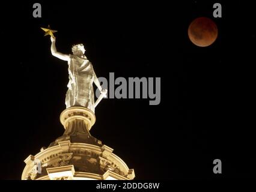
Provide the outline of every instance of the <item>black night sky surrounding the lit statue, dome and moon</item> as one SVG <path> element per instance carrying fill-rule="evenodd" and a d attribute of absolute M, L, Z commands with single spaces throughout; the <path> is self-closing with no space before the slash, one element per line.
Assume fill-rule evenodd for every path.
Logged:
<path fill-rule="evenodd" d="M 255 178 L 255 10 L 243 1 L 41 3 L 1 6 L 1 179 L 20 179 L 29 154 L 64 133 L 67 62 L 50 53 L 83 43 L 98 77 L 161 77 L 161 101 L 104 99 L 90 133 L 135 169 L 135 179 Z M 213 17 L 221 2 L 222 18 Z M 219 35 L 197 47 L 187 28 L 209 17 Z M 222 160 L 222 174 L 213 160 Z"/>

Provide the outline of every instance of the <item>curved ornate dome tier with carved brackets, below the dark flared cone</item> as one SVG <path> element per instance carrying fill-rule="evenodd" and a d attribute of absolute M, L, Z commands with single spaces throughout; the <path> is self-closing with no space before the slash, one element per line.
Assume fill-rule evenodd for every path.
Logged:
<path fill-rule="evenodd" d="M 129 169 L 121 158 L 112 153 L 112 150 L 106 145 L 99 147 L 87 143 L 61 142 L 58 146 L 44 149 L 35 156 L 29 155 L 25 160 L 27 164 L 22 179 L 46 179 L 47 169 L 63 166 L 74 166 L 79 174 L 91 172 L 104 175 L 106 172 L 112 172 L 121 178 L 133 179 L 133 169 Z M 41 174 L 34 174 L 32 160 L 35 158 L 42 162 Z"/>

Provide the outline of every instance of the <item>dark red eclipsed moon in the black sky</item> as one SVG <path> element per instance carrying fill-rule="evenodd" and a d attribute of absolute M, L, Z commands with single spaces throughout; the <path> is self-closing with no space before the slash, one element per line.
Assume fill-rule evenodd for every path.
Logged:
<path fill-rule="evenodd" d="M 212 19 L 199 17 L 189 25 L 188 35 L 190 41 L 199 47 L 213 44 L 218 36 L 218 28 Z"/>

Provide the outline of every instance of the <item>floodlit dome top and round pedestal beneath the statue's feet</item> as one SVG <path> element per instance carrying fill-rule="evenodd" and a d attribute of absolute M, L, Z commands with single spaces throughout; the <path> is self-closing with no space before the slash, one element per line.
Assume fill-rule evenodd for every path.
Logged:
<path fill-rule="evenodd" d="M 61 113 L 65 132 L 48 148 L 26 158 L 22 180 L 87 180 L 135 178 L 113 149 L 91 136 L 96 121 L 94 113 L 85 107 L 70 107 Z M 34 160 L 40 160 L 41 173 Z"/>

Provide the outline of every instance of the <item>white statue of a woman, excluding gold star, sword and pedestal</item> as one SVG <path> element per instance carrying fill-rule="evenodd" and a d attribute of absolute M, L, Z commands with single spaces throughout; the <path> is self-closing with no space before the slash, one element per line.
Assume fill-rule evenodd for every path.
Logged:
<path fill-rule="evenodd" d="M 50 37 L 52 46 L 50 50 L 53 56 L 67 61 L 69 64 L 69 88 L 66 94 L 66 107 L 82 106 L 87 107 L 94 112 L 94 91 L 93 83 L 102 94 L 107 90 L 100 86 L 99 80 L 93 70 L 93 65 L 84 55 L 85 48 L 83 44 L 76 44 L 72 47 L 73 54 L 65 55 L 57 52 L 55 46 L 55 37 Z"/>

